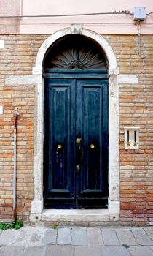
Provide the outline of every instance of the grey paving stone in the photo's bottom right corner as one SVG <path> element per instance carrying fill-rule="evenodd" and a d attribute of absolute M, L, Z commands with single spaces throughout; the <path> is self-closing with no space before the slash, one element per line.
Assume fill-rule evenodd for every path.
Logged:
<path fill-rule="evenodd" d="M 153 256 L 152 249 L 149 246 L 130 246 L 129 251 L 132 256 Z"/>

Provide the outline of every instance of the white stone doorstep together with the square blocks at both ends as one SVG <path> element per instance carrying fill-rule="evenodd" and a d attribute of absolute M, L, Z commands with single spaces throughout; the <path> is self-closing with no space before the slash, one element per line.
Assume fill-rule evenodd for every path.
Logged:
<path fill-rule="evenodd" d="M 108 199 L 108 209 L 43 210 L 43 201 L 31 203 L 31 222 L 110 222 L 119 220 L 120 203 Z"/>

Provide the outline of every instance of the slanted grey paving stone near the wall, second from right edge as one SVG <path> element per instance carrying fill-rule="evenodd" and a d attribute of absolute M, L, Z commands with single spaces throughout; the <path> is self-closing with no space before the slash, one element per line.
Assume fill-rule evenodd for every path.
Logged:
<path fill-rule="evenodd" d="M 140 245 L 153 245 L 153 241 L 149 238 L 142 227 L 131 227 L 133 235 Z"/>

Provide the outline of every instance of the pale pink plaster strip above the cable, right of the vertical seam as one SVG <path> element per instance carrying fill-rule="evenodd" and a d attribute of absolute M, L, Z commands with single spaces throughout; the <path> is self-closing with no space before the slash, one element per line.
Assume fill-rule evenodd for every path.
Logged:
<path fill-rule="evenodd" d="M 146 12 L 150 12 L 153 2 L 152 0 L 107 0 L 105 2 L 101 0 L 23 0 L 23 15 L 114 12 L 114 10 L 132 12 L 135 6 L 144 6 Z"/>

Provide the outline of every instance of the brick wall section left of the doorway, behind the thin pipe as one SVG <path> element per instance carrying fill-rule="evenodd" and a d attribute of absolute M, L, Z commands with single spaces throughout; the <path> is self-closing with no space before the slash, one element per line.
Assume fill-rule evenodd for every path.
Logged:
<path fill-rule="evenodd" d="M 33 199 L 34 85 L 8 86 L 6 75 L 31 75 L 36 53 L 45 37 L 1 37 L 0 49 L 0 219 L 12 218 L 14 111 L 17 124 L 17 215 L 28 219 Z"/>

